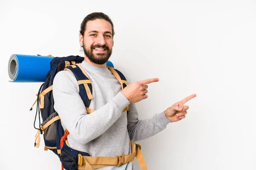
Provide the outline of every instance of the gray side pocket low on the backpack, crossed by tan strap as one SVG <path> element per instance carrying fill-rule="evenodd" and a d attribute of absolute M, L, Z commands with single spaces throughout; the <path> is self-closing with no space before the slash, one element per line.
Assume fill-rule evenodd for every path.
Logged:
<path fill-rule="evenodd" d="M 44 126 L 47 122 L 49 122 L 55 116 L 56 116 L 56 112 L 53 112 L 43 123 L 41 123 L 41 126 Z M 44 138 L 48 141 L 56 141 L 56 122 L 53 122 L 44 130 Z"/>

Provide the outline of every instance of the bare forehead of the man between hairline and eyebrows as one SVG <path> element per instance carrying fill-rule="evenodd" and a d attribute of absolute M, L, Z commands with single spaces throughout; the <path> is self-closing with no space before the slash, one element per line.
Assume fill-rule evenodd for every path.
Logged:
<path fill-rule="evenodd" d="M 87 22 L 85 32 L 90 32 L 90 31 L 112 32 L 112 26 L 106 20 L 102 20 L 102 19 L 91 20 Z"/>

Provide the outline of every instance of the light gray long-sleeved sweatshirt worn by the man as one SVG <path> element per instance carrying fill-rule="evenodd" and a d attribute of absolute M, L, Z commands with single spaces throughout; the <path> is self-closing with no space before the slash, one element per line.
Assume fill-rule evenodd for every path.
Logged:
<path fill-rule="evenodd" d="M 90 156 L 128 155 L 131 154 L 130 140 L 136 142 L 151 137 L 170 123 L 164 112 L 154 114 L 150 119 L 139 120 L 135 104 L 130 104 L 121 93 L 120 83 L 108 68 L 98 68 L 85 61 L 80 65 L 92 83 L 93 99 L 89 108 L 95 112 L 87 114 L 79 96 L 78 83 L 70 71 L 58 72 L 53 81 L 54 108 L 63 128 L 70 132 L 67 140 L 71 147 Z M 129 79 L 128 83 L 131 83 Z M 126 111 L 122 113 L 126 105 L 130 107 L 128 114 Z M 129 162 L 98 170 L 103 169 L 133 170 L 134 166 Z"/>

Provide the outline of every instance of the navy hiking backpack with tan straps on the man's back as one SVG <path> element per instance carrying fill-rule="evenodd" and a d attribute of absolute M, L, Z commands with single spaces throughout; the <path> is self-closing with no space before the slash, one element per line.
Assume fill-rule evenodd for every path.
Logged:
<path fill-rule="evenodd" d="M 66 140 L 69 131 L 67 129 L 63 129 L 63 127 L 61 126 L 60 117 L 54 109 L 54 99 L 52 95 L 53 79 L 59 71 L 67 70 L 73 73 L 73 75 L 76 77 L 76 80 L 79 84 L 79 95 L 84 102 L 87 113 L 89 114 L 95 111 L 89 108 L 91 99 L 93 99 L 93 89 L 90 82 L 90 77 L 88 77 L 81 65 L 78 64 L 81 63 L 83 60 L 84 57 L 80 56 L 54 57 L 54 59 L 52 59 L 52 61 L 50 62 L 50 70 L 46 76 L 47 79 L 39 88 L 38 94 L 36 94 L 37 99 L 34 102 L 34 104 L 37 102 L 35 121 L 37 119 L 37 114 L 39 120 L 39 128 L 35 127 L 34 121 L 34 128 L 37 129 L 34 146 L 39 147 L 41 141 L 40 135 L 44 133 L 44 150 L 52 150 L 52 152 L 54 152 L 59 157 L 62 169 L 65 168 L 66 170 L 79 170 L 79 168 L 84 170 L 91 170 L 92 168 L 111 165 L 102 163 L 102 161 L 95 161 L 94 159 L 97 159 L 98 157 L 91 157 L 89 153 L 81 152 L 70 147 Z M 125 76 L 120 71 L 113 68 L 113 64 L 109 61 L 107 62 L 107 67 L 118 79 L 121 88 L 125 88 L 128 85 Z M 127 105 L 122 112 L 128 110 L 129 105 Z M 32 108 L 30 109 L 30 111 L 32 111 Z M 131 145 L 134 147 L 133 153 L 135 154 L 133 154 L 133 156 L 128 155 L 131 157 L 131 160 L 126 159 L 128 161 L 133 161 L 136 153 L 141 153 L 140 151 L 138 151 L 140 150 L 140 145 L 133 142 L 131 142 Z M 122 157 L 117 156 L 112 160 L 117 161 L 117 163 L 114 162 L 112 164 L 116 164 L 117 166 L 122 165 L 126 163 L 124 158 L 124 155 Z M 106 160 L 111 162 L 110 157 L 106 157 Z M 145 163 L 143 162 L 143 164 Z"/>

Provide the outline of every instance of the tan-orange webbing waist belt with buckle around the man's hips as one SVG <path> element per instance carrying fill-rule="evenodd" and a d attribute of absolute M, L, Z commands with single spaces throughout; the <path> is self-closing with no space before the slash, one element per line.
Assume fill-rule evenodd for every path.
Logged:
<path fill-rule="evenodd" d="M 126 164 L 128 162 L 134 161 L 134 158 L 137 157 L 138 162 L 140 164 L 141 170 L 147 170 L 147 166 L 145 163 L 145 159 L 143 154 L 140 151 L 140 148 L 137 147 L 136 144 L 131 142 L 131 154 L 130 155 L 121 155 L 116 157 L 92 157 L 92 156 L 82 156 L 79 154 L 78 159 L 78 170 L 92 170 L 99 167 L 106 167 L 109 165 L 120 166 L 122 164 Z"/>

